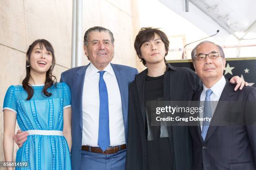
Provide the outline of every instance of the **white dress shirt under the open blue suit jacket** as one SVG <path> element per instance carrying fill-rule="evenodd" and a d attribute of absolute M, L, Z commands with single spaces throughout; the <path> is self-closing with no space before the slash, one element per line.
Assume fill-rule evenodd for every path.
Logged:
<path fill-rule="evenodd" d="M 100 95 L 98 69 L 90 63 L 85 72 L 82 94 L 82 145 L 98 146 Z M 103 79 L 108 90 L 110 146 L 125 144 L 122 102 L 115 72 L 110 64 L 105 67 Z"/>

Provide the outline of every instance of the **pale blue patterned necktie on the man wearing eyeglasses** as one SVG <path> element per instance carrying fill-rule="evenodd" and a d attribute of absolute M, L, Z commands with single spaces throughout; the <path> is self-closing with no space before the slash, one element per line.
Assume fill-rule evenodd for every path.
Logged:
<path fill-rule="evenodd" d="M 210 98 L 211 94 L 212 94 L 211 89 L 206 90 L 205 104 L 204 104 L 204 118 L 205 117 L 208 117 L 208 118 L 212 117 L 212 108 L 211 108 L 211 102 L 210 102 L 211 101 L 211 98 Z M 201 133 L 203 141 L 205 141 L 205 137 L 206 137 L 209 125 L 210 125 L 209 121 L 206 121 L 206 120 L 203 121 L 202 133 Z"/>

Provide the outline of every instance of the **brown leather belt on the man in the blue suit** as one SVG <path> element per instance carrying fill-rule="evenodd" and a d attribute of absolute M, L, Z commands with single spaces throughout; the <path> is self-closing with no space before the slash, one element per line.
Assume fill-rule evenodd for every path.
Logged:
<path fill-rule="evenodd" d="M 91 151 L 90 151 L 90 148 L 91 148 Z M 82 145 L 82 150 L 93 152 L 93 153 L 102 153 L 102 154 L 113 154 L 113 153 L 117 153 L 119 150 L 124 150 L 124 149 L 126 149 L 126 144 L 107 148 L 104 152 L 102 151 L 102 149 L 97 147 Z"/>

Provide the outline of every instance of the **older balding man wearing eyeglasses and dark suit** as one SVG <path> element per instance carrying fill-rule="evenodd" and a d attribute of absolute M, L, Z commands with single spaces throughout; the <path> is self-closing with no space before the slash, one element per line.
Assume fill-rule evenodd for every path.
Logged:
<path fill-rule="evenodd" d="M 213 42 L 201 42 L 192 50 L 191 56 L 203 82 L 203 88 L 193 100 L 204 103 L 201 117 L 212 118 L 210 122 L 189 127 L 194 156 L 192 169 L 255 170 L 255 118 L 248 123 L 255 116 L 245 110 L 249 106 L 246 103 L 256 103 L 256 88 L 247 86 L 234 91 L 234 85 L 223 76 L 226 63 L 223 49 Z M 239 107 L 231 107 L 231 103 L 238 103 Z M 236 116 L 241 124 L 235 121 Z M 229 125 L 223 124 L 226 120 L 230 120 Z"/>

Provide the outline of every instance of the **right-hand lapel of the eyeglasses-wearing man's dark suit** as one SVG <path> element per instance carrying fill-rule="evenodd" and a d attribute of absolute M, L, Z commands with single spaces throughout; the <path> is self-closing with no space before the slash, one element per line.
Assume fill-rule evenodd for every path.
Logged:
<path fill-rule="evenodd" d="M 228 106 L 224 105 L 221 101 L 230 101 L 232 100 L 231 97 L 234 95 L 235 91 L 233 89 L 233 86 L 226 80 L 226 85 L 220 95 L 220 99 L 218 102 L 218 105 L 215 109 L 215 112 L 212 116 L 212 121 L 210 123 L 210 126 L 208 128 L 206 137 L 205 137 L 205 142 L 209 140 L 211 137 L 212 133 L 216 130 L 220 122 L 223 120 L 223 113 L 225 113 L 225 110 L 228 110 Z"/>

